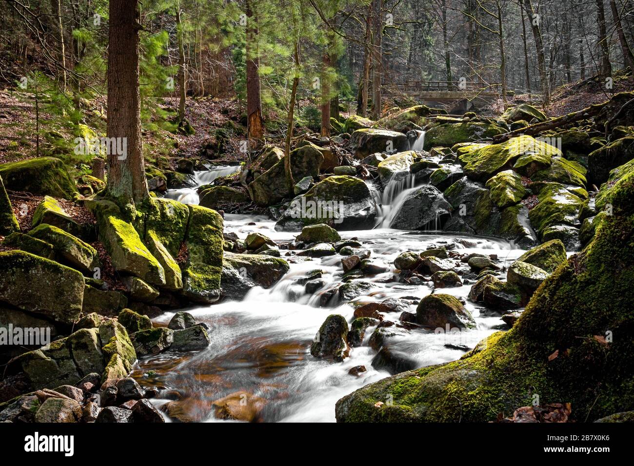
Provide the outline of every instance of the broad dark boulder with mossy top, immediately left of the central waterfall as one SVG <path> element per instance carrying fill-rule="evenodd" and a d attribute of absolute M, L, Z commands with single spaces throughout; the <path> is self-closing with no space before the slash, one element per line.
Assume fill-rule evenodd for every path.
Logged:
<path fill-rule="evenodd" d="M 376 216 L 376 202 L 363 180 L 329 176 L 292 200 L 275 228 L 299 231 L 307 225 L 325 223 L 339 231 L 360 230 L 372 228 Z"/>

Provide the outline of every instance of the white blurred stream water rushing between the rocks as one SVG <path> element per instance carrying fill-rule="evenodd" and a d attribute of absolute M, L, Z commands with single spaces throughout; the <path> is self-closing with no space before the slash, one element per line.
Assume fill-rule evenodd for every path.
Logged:
<path fill-rule="evenodd" d="M 209 174 L 209 178 L 213 174 Z M 200 177 L 202 178 L 202 177 Z M 207 180 L 209 179 L 207 178 Z M 408 182 L 409 183 L 409 182 Z M 404 183 L 403 186 L 408 186 Z M 411 188 L 399 188 L 401 194 Z M 396 187 L 391 202 L 401 194 Z M 182 190 L 180 190 L 182 191 Z M 194 190 L 195 192 L 195 190 Z M 173 193 L 172 195 L 176 195 Z M 181 193 L 182 195 L 182 193 Z M 387 196 L 387 195 L 385 195 Z M 387 197 L 385 197 L 387 200 Z M 385 209 L 384 205 L 384 209 Z M 275 231 L 275 223 L 264 217 L 225 216 L 225 231 L 245 238 L 252 231 L 269 236 L 276 242 L 289 242 L 296 233 Z M 341 282 L 341 256 L 308 259 L 290 256 L 290 271 L 269 289 L 253 288 L 242 301 L 224 301 L 211 306 L 184 309 L 210 328 L 210 346 L 195 353 L 163 353 L 138 362 L 133 373 L 141 385 L 158 387 L 160 395 L 154 402 L 162 405 L 169 393 L 178 391 L 183 398 L 180 408 L 190 420 L 225 422 L 214 418 L 212 401 L 228 394 L 246 391 L 266 400 L 261 412 L 265 422 L 332 422 L 335 403 L 342 396 L 376 382 L 390 374 L 372 367 L 376 352 L 367 346 L 373 328 L 365 333 L 365 346 L 351 349 L 342 363 L 316 359 L 309 348 L 321 323 L 330 314 L 353 319 L 354 304 L 382 301 L 390 297 L 421 299 L 432 292 L 431 283 L 410 285 L 399 283 L 391 266 L 394 258 L 406 250 L 421 251 L 430 245 L 455 245 L 458 252 L 498 254 L 500 265 L 508 266 L 522 251 L 510 249 L 504 240 L 445 233 L 420 233 L 375 228 L 374 230 L 343 231 L 342 238 L 358 238 L 372 258 L 384 262 L 389 271 L 364 281 L 376 288 L 353 301 L 336 307 L 319 307 L 320 295 Z M 282 256 L 285 250 L 281 250 Z M 314 294 L 304 291 L 295 280 L 307 271 L 321 269 L 325 285 Z M 443 288 L 442 292 L 466 301 L 470 285 Z M 460 358 L 490 333 L 503 328 L 499 315 L 489 313 L 466 301 L 473 314 L 477 330 L 456 333 L 434 333 L 423 329 L 411 330 L 396 337 L 393 348 L 406 354 L 417 366 L 444 363 Z M 416 306 L 407 309 L 415 313 Z M 165 312 L 154 320 L 155 325 L 167 325 L 176 311 Z M 386 320 L 398 321 L 401 311 L 385 314 Z M 448 347 L 450 346 L 450 347 Z M 366 372 L 359 377 L 349 375 L 354 366 L 364 365 Z M 173 399 L 173 398 L 171 398 Z"/>

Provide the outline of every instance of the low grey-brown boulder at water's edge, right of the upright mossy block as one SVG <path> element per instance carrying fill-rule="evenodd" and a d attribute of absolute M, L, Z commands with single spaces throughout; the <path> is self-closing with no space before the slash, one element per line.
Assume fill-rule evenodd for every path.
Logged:
<path fill-rule="evenodd" d="M 288 269 L 288 262 L 279 257 L 224 252 L 222 295 L 227 299 L 242 299 L 253 287 L 273 286 Z"/>

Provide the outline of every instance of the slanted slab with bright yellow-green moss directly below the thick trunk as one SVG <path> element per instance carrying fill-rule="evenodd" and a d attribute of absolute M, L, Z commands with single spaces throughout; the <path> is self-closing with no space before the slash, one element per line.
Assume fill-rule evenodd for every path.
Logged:
<path fill-rule="evenodd" d="M 153 285 L 165 285 L 165 269 L 152 256 L 119 207 L 108 200 L 89 202 L 87 206 L 97 217 L 99 238 L 110 254 L 113 268 L 124 275 L 138 276 Z"/>

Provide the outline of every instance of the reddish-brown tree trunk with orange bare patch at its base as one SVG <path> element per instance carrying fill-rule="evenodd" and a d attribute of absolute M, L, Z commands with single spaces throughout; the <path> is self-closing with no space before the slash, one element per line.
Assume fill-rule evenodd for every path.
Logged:
<path fill-rule="evenodd" d="M 247 0 L 247 133 L 249 139 L 262 139 L 262 100 L 260 95 L 260 58 L 257 46 L 257 18 Z"/>

